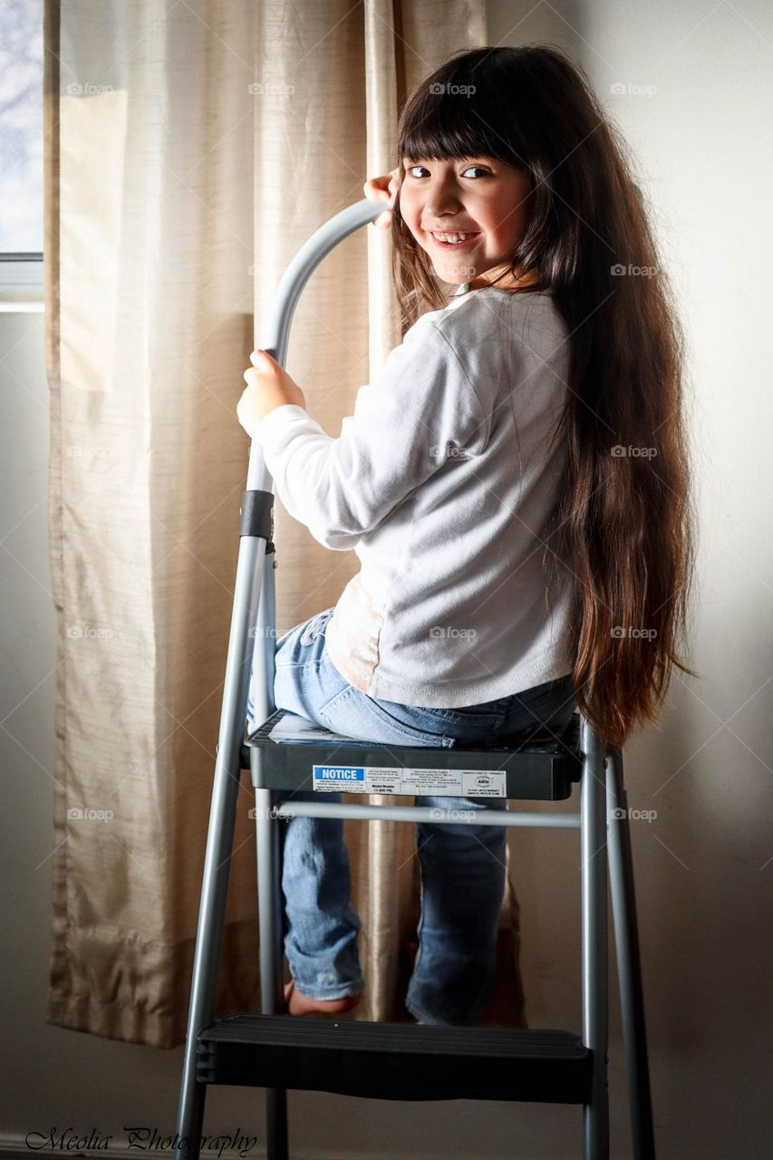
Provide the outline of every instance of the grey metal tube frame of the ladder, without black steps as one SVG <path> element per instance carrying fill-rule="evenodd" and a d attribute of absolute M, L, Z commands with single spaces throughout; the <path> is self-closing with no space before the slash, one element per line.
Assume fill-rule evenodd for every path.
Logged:
<path fill-rule="evenodd" d="M 322 259 L 360 226 L 383 212 L 383 205 L 361 201 L 323 225 L 288 267 L 277 289 L 276 306 L 262 349 L 284 365 L 289 326 L 309 276 Z M 190 1007 L 178 1109 L 175 1160 L 197 1160 L 207 1085 L 196 1080 L 198 1036 L 215 1020 L 223 926 L 233 851 L 236 807 L 244 759 L 244 727 L 253 652 L 255 719 L 274 711 L 275 590 L 273 494 L 260 444 L 250 451 L 234 601 L 225 667 L 224 695 L 212 785 L 207 851 L 194 954 Z M 629 1107 L 635 1160 L 655 1158 L 651 1094 L 646 1051 L 641 958 L 634 894 L 628 809 L 620 749 L 602 754 L 597 730 L 580 716 L 580 811 L 578 814 L 476 811 L 475 824 L 579 828 L 581 851 L 581 977 L 583 1042 L 593 1052 L 592 1099 L 583 1112 L 584 1160 L 609 1154 L 607 1097 L 608 972 L 607 891 L 611 889 L 617 973 L 628 1071 Z M 281 849 L 273 822 L 297 814 L 335 818 L 380 818 L 442 822 L 436 811 L 417 806 L 361 806 L 331 803 L 274 804 L 275 791 L 255 789 L 260 927 L 261 1013 L 283 1009 L 283 943 Z M 286 812 L 283 812 L 286 811 Z M 458 822 L 458 819 L 454 819 Z M 472 819 L 470 819 L 470 824 Z M 605 847 L 607 856 L 604 856 Z M 267 1155 L 287 1160 L 287 1092 L 266 1089 Z"/>

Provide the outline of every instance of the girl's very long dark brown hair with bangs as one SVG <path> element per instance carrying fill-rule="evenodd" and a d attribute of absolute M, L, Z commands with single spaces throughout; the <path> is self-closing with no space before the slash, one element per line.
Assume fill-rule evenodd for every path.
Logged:
<path fill-rule="evenodd" d="M 556 430 L 568 466 L 546 556 L 573 572 L 579 709 L 606 746 L 657 720 L 694 567 L 682 399 L 685 338 L 622 137 L 550 45 L 455 53 L 409 97 L 396 165 L 489 155 L 529 180 L 510 274 L 552 296 L 570 342 Z M 448 304 L 399 211 L 392 278 L 403 333 Z M 513 292 L 518 292 L 514 290 Z"/>

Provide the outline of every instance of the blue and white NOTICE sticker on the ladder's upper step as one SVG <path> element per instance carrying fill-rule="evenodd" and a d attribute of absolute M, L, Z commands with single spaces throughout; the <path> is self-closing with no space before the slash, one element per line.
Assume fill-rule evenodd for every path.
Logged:
<path fill-rule="evenodd" d="M 390 766 L 313 766 L 315 791 L 506 797 L 505 770 L 402 769 Z"/>

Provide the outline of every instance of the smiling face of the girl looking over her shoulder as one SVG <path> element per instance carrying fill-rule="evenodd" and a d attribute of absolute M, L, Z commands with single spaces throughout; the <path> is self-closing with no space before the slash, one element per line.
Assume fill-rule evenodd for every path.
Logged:
<path fill-rule="evenodd" d="M 420 162 L 404 159 L 399 205 L 405 224 L 429 255 L 439 278 L 460 285 L 477 280 L 479 285 L 486 285 L 506 269 L 526 229 L 528 191 L 528 177 L 496 158 Z M 435 237 L 443 233 L 475 237 L 451 246 Z M 506 276 L 498 284 L 519 283 Z"/>

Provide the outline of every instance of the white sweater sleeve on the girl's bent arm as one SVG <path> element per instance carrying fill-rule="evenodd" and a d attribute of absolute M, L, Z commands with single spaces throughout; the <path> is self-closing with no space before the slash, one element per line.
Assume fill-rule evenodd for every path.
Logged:
<path fill-rule="evenodd" d="M 258 423 L 276 492 L 288 513 L 325 548 L 347 551 L 417 487 L 453 461 L 483 450 L 486 419 L 448 339 L 419 319 L 354 414 L 331 438 L 303 407 L 284 404 Z"/>

